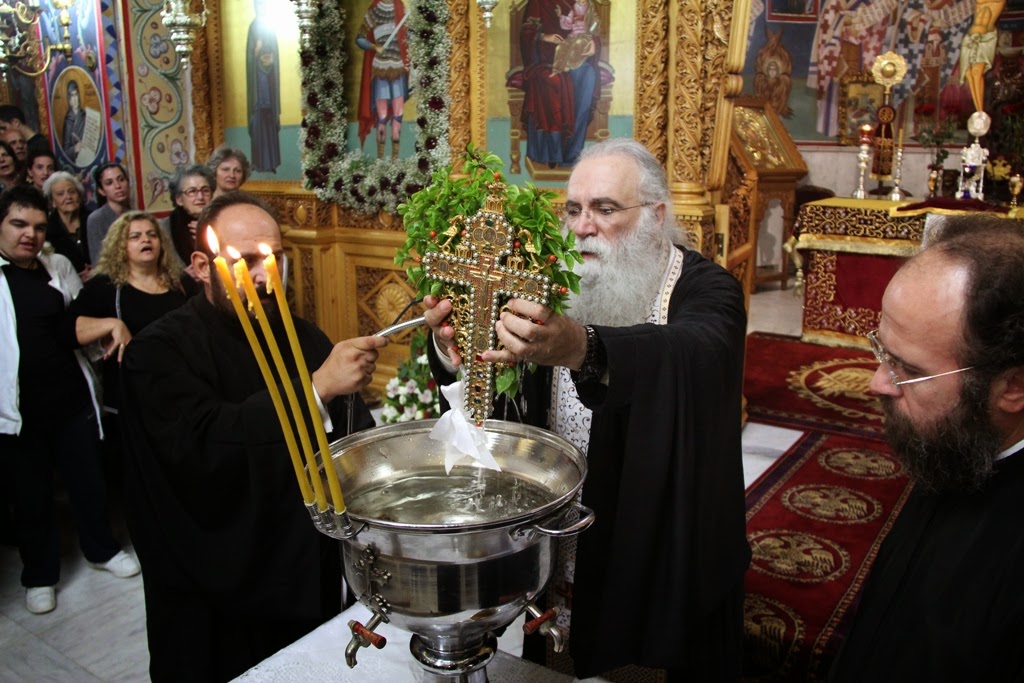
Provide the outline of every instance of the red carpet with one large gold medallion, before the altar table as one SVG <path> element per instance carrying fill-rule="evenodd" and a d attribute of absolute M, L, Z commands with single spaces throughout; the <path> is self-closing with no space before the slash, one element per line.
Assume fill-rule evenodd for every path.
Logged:
<path fill-rule="evenodd" d="M 752 334 L 743 385 L 748 415 L 791 429 L 882 438 L 882 408 L 866 394 L 877 368 L 869 351 Z"/>

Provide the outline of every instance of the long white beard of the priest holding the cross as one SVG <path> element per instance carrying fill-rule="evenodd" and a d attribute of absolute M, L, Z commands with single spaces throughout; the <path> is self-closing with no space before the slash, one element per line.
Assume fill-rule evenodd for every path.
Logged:
<path fill-rule="evenodd" d="M 653 211 L 616 240 L 592 236 L 577 241 L 581 252 L 600 258 L 582 263 L 580 294 L 570 294 L 568 316 L 583 325 L 622 328 L 646 323 L 662 287 L 672 243 Z"/>

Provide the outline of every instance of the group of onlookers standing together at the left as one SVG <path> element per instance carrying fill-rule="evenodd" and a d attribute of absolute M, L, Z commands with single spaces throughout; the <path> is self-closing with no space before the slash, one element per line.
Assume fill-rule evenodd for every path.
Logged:
<path fill-rule="evenodd" d="M 49 141 L 23 120 L 0 105 L 0 540 L 18 548 L 26 607 L 45 613 L 59 581 L 54 472 L 87 562 L 117 577 L 140 571 L 108 510 L 110 471 L 121 469 L 119 370 L 133 336 L 202 292 L 188 274 L 195 217 L 214 191 L 237 190 L 249 165 L 221 147 L 209 166 L 179 171 L 176 210 L 191 223 L 172 238 L 132 210 L 124 166 L 92 169 L 88 202 L 80 174 L 58 170 Z"/>

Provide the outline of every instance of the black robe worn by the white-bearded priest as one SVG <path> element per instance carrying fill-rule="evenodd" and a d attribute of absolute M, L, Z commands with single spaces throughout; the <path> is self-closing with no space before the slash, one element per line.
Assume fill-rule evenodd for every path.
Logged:
<path fill-rule="evenodd" d="M 594 413 L 583 504 L 597 519 L 577 550 L 575 674 L 632 664 L 687 680 L 738 680 L 751 557 L 740 447 L 742 290 L 686 251 L 667 325 L 595 330 L 608 384 L 577 385 Z M 454 379 L 436 357 L 431 364 L 438 379 Z M 527 375 L 524 421 L 547 427 L 551 377 L 550 369 Z M 496 418 L 515 415 L 496 407 Z"/>

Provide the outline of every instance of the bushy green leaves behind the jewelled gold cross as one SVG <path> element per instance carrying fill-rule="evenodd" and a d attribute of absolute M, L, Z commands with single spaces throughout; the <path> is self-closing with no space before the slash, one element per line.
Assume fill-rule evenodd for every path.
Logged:
<path fill-rule="evenodd" d="M 496 155 L 470 145 L 461 172 L 454 173 L 452 167 L 441 169 L 426 187 L 398 206 L 408 238 L 395 255 L 395 263 L 406 267 L 419 296 L 432 294 L 453 300 L 450 321 L 460 350 L 473 346 L 474 321 L 469 312 L 472 307 L 467 303 L 469 288 L 432 278 L 426 262 L 432 257 L 439 260 L 442 255 L 466 255 L 470 244 L 468 228 L 480 212 L 501 207 L 501 215 L 487 219 L 496 220 L 502 230 L 509 231 L 509 243 L 502 247 L 505 256 L 501 265 L 516 268 L 516 272 L 525 273 L 532 282 L 543 283 L 546 289 L 537 300 L 561 313 L 569 292 L 580 292 L 580 276 L 572 272 L 572 265 L 583 263 L 583 257 L 575 250 L 571 230 L 562 229 L 552 207 L 557 195 L 530 183 L 524 187 L 506 184 L 501 167 L 501 159 Z M 463 358 L 472 368 L 472 356 L 463 353 Z M 527 365 L 527 369 L 532 371 L 534 367 Z M 499 364 L 494 370 L 497 392 L 518 394 L 523 366 Z"/>

